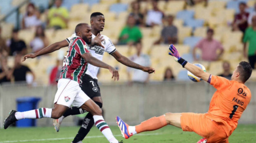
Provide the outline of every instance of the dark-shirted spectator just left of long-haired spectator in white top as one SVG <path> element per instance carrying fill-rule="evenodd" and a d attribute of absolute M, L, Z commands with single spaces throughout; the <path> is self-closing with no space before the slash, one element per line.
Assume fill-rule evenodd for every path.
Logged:
<path fill-rule="evenodd" d="M 25 42 L 18 37 L 18 30 L 12 30 L 12 38 L 6 41 L 7 47 L 9 47 L 9 55 L 15 55 L 18 53 L 25 55 L 27 53 L 27 46 Z"/>

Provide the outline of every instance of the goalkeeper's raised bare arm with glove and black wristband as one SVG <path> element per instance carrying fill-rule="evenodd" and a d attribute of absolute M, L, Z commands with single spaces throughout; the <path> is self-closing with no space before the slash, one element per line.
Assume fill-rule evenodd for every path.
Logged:
<path fill-rule="evenodd" d="M 210 74 L 204 72 L 198 66 L 196 66 L 194 64 L 190 64 L 186 60 L 182 59 L 180 57 L 178 50 L 175 48 L 175 46 L 173 44 L 170 45 L 169 49 L 171 51 L 171 52 L 169 52 L 169 55 L 172 55 L 175 58 L 175 60 L 183 66 L 183 68 L 187 69 L 195 76 L 197 76 L 205 81 L 208 81 Z"/>

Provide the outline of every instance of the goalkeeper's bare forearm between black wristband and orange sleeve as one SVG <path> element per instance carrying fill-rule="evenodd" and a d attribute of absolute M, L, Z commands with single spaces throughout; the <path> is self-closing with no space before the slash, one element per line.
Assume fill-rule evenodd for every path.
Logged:
<path fill-rule="evenodd" d="M 192 74 L 194 74 L 195 76 L 208 81 L 210 74 L 204 72 L 201 68 L 199 68 L 198 66 L 194 65 L 194 64 L 190 64 L 189 62 L 184 66 L 185 69 L 187 69 L 188 71 L 190 71 Z"/>

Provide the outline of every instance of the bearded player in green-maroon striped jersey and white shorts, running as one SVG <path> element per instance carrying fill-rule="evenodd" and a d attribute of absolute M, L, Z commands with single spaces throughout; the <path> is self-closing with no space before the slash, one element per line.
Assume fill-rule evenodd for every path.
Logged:
<path fill-rule="evenodd" d="M 58 119 L 71 106 L 80 107 L 93 115 L 94 123 L 110 143 L 119 143 L 113 136 L 109 126 L 102 117 L 101 108 L 93 102 L 80 88 L 81 77 L 87 70 L 87 62 L 98 67 L 109 69 L 112 78 L 119 79 L 118 71 L 110 65 L 96 59 L 88 50 L 91 43 L 91 26 L 80 23 L 75 29 L 76 36 L 69 44 L 65 64 L 58 79 L 58 90 L 54 98 L 54 107 L 17 112 L 12 110 L 4 122 L 4 129 L 12 123 L 24 118 L 53 118 Z M 47 51 L 47 50 L 46 50 Z M 48 49 L 48 52 L 50 50 Z M 26 58 L 24 59 L 26 60 Z"/>

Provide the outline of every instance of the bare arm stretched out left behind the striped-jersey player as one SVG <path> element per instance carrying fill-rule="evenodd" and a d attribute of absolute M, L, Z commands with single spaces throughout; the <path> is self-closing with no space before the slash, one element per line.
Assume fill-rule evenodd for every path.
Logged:
<path fill-rule="evenodd" d="M 25 55 L 23 58 L 22 58 L 22 62 L 25 61 L 26 59 L 29 59 L 29 58 L 35 58 L 37 56 L 40 56 L 40 55 L 45 55 L 45 54 L 48 54 L 48 53 L 52 53 L 56 50 L 59 50 L 63 47 L 66 47 L 68 46 L 68 42 L 66 40 L 62 40 L 60 42 L 56 42 L 56 43 L 53 43 L 47 47 L 45 47 L 44 49 L 40 50 L 39 52 L 37 53 L 31 53 L 31 54 L 27 54 Z"/>

